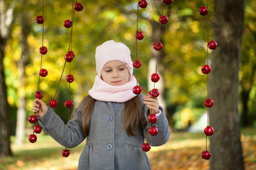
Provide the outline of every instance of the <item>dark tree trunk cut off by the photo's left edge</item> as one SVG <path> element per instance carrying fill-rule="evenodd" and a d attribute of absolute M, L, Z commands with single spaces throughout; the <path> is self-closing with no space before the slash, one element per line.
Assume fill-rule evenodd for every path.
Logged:
<path fill-rule="evenodd" d="M 13 10 L 6 10 L 5 2 L 0 0 L 0 157 L 11 155 L 11 127 L 9 118 L 9 103 L 4 74 L 4 51 L 6 40 L 9 38 Z"/>

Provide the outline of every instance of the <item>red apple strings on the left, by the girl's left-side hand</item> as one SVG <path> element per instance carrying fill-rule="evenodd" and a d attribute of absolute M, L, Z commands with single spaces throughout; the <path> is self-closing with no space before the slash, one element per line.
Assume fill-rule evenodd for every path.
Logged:
<path fill-rule="evenodd" d="M 43 4 L 44 4 L 44 2 L 43 2 Z M 73 59 L 75 57 L 75 52 L 72 51 L 73 22 L 74 22 L 75 11 L 82 11 L 82 8 L 83 8 L 82 4 L 78 3 L 78 1 L 75 2 L 75 6 L 73 4 L 74 3 L 73 3 L 73 0 L 72 0 L 71 20 L 68 19 L 68 20 L 65 20 L 63 22 L 63 26 L 65 28 L 71 28 L 71 31 L 70 31 L 70 42 L 69 42 L 68 52 L 64 57 L 65 58 L 65 63 L 64 63 L 64 66 L 63 66 L 63 71 L 62 71 L 61 76 L 60 76 L 60 81 L 61 81 L 61 79 L 63 77 L 64 69 L 65 69 L 65 64 L 66 64 L 66 62 L 69 62 L 70 63 L 70 72 L 65 78 L 66 81 L 69 83 L 69 96 L 68 96 L 68 100 L 65 101 L 65 105 L 64 105 L 65 108 L 68 108 L 68 120 L 70 120 L 70 109 L 73 106 L 73 102 L 70 100 L 70 84 L 74 81 L 74 77 L 71 74 L 71 62 L 73 61 Z M 42 26 L 44 27 L 43 22 L 44 22 L 43 14 L 42 14 L 42 16 L 37 16 L 36 17 L 36 23 L 42 24 Z M 44 30 L 42 32 L 44 33 Z M 43 33 L 42 33 L 42 47 L 39 48 L 39 52 L 41 53 L 41 69 L 40 69 L 39 78 L 38 78 L 38 91 L 36 91 L 36 93 L 35 93 L 35 97 L 39 98 L 39 99 L 43 98 L 43 92 L 40 91 L 40 89 L 39 89 L 40 78 L 41 77 L 46 77 L 48 75 L 48 71 L 46 69 L 42 69 L 43 55 L 46 55 L 46 53 L 48 52 L 47 47 L 43 46 Z M 55 108 L 55 107 L 58 106 L 58 101 L 55 100 L 55 96 L 58 92 L 58 87 L 60 85 L 60 81 L 58 82 L 58 86 L 57 86 L 57 89 L 55 91 L 55 95 L 53 96 L 53 98 L 51 100 L 48 100 L 49 101 L 49 106 L 51 108 Z M 38 125 L 38 118 L 37 118 L 36 115 L 30 115 L 29 118 L 28 118 L 28 121 L 29 121 L 29 123 L 32 123 L 34 125 L 33 134 L 29 135 L 28 140 L 29 140 L 29 142 L 34 143 L 37 140 L 37 137 L 34 134 L 34 132 L 39 134 L 39 133 L 41 133 L 42 128 L 41 128 L 40 125 Z M 63 151 L 62 151 L 63 157 L 68 157 L 69 154 L 70 154 L 69 149 L 67 149 L 67 148 L 63 149 Z"/>

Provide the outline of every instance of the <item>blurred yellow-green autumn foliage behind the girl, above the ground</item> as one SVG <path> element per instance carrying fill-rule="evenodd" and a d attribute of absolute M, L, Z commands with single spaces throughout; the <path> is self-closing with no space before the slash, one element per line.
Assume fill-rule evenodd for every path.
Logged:
<path fill-rule="evenodd" d="M 11 2 L 16 3 L 14 21 L 9 28 L 10 36 L 6 46 L 1 47 L 5 47 L 4 73 L 7 98 L 11 106 L 11 113 L 7 114 L 10 115 L 11 135 L 15 135 L 17 111 L 18 113 L 23 111 L 28 118 L 31 115 L 34 94 L 38 90 L 41 61 L 38 50 L 41 47 L 42 26 L 35 22 L 35 18 L 42 14 L 42 1 L 1 1 L 8 6 Z M 44 45 L 48 47 L 48 53 L 43 56 L 43 68 L 48 70 L 48 76 L 41 78 L 40 89 L 44 94 L 43 101 L 53 98 L 65 62 L 70 29 L 63 27 L 63 21 L 70 19 L 71 2 L 70 0 L 45 1 Z M 92 87 L 96 75 L 97 45 L 106 40 L 124 42 L 130 48 L 134 60 L 137 20 L 137 1 L 80 2 L 84 9 L 75 12 L 72 48 L 75 52 L 75 59 L 72 62 L 75 81 L 71 84 L 71 97 L 76 106 Z M 142 61 L 142 67 L 138 69 L 138 77 L 139 84 L 144 89 L 149 85 L 147 80 L 149 60 L 155 57 L 153 44 L 158 35 L 156 23 L 161 8 L 160 1 L 148 0 L 148 2 L 146 9 L 139 9 L 139 30 L 144 32 L 145 38 L 138 42 L 138 57 Z M 161 50 L 159 72 L 162 74 L 161 79 L 164 79 L 166 114 L 172 128 L 186 128 L 188 122 L 196 123 L 206 112 L 203 101 L 207 94 L 207 77 L 201 73 L 201 67 L 206 62 L 207 23 L 206 18 L 198 14 L 198 8 L 205 5 L 206 1 L 203 0 L 180 0 L 174 1 L 170 6 L 164 6 L 164 14 L 169 17 L 169 23 L 162 27 L 161 40 L 164 48 Z M 252 114 L 256 112 L 256 107 L 253 105 L 256 100 L 255 69 L 253 69 L 255 68 L 255 5 L 256 2 L 252 0 L 245 3 L 245 29 L 239 79 L 240 115 L 243 125 L 256 124 L 255 115 Z M 215 17 L 212 1 L 209 1 L 208 8 L 211 9 L 209 37 L 212 38 Z M 25 56 L 29 58 L 24 59 Z M 68 72 L 69 64 L 65 67 L 57 94 L 58 107 L 55 108 L 65 122 L 68 120 L 68 110 L 64 107 L 64 102 L 68 99 L 68 83 L 65 81 Z M 157 86 L 158 84 L 156 88 Z M 32 125 L 26 121 L 26 118 L 23 126 L 30 130 Z"/>

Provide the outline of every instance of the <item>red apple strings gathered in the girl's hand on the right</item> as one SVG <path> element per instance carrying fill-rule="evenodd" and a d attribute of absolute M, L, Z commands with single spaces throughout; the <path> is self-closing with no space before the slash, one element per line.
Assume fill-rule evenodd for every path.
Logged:
<path fill-rule="evenodd" d="M 162 11 L 161 11 L 161 16 L 159 17 L 159 40 L 157 42 L 154 43 L 154 50 L 156 50 L 156 72 L 157 72 L 157 61 L 158 61 L 158 58 L 159 58 L 159 51 L 163 48 L 163 44 L 160 42 L 160 35 L 161 35 L 161 25 L 165 25 L 166 23 L 168 23 L 169 19 L 167 18 L 167 16 L 164 16 L 163 15 L 163 12 L 164 12 L 164 4 L 166 5 L 169 5 L 173 2 L 173 0 L 163 0 L 163 5 L 162 5 Z M 142 33 L 142 31 L 139 31 L 138 29 L 138 25 L 139 25 L 139 7 L 140 8 L 146 8 L 146 6 L 148 5 L 147 1 L 146 0 L 141 0 L 139 1 L 138 5 L 137 5 L 137 31 L 135 33 L 135 60 L 133 62 L 133 67 L 136 68 L 136 77 L 138 79 L 138 75 L 137 75 L 137 69 L 139 69 L 139 67 L 142 66 L 142 62 L 140 62 L 137 58 L 137 41 L 138 40 L 142 40 L 144 38 L 144 33 Z M 147 92 L 147 95 L 151 95 L 151 96 L 154 96 L 154 97 L 158 97 L 159 96 L 159 90 L 155 88 L 155 84 L 157 81 L 159 81 L 160 77 L 159 77 L 159 74 L 157 73 L 154 73 L 151 75 L 151 81 L 154 82 L 154 89 L 152 89 L 151 91 Z M 143 89 L 144 90 L 144 89 Z M 145 91 L 145 90 L 144 90 Z M 134 86 L 133 88 L 133 93 L 134 94 L 141 94 L 142 93 L 142 87 L 139 86 L 139 83 L 137 81 L 137 86 Z M 148 140 L 148 137 L 149 137 L 149 134 L 152 135 L 152 136 L 155 136 L 158 134 L 158 129 L 156 127 L 156 125 L 154 123 L 156 123 L 156 120 L 157 120 L 157 117 L 155 114 L 152 114 L 151 111 L 150 111 L 150 114 L 149 114 L 149 131 L 146 135 L 146 142 L 144 142 L 142 144 L 142 150 L 144 152 L 149 152 L 149 150 L 151 149 L 151 145 L 149 144 L 149 140 Z"/>

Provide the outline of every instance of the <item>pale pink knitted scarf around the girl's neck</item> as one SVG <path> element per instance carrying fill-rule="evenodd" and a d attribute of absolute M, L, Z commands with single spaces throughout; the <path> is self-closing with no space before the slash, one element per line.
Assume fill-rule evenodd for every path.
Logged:
<path fill-rule="evenodd" d="M 98 101 L 122 103 L 137 96 L 132 92 L 134 86 L 137 86 L 137 80 L 134 76 L 132 76 L 126 84 L 112 86 L 100 79 L 97 75 L 92 89 L 89 90 L 89 94 L 92 98 L 95 98 Z"/>

